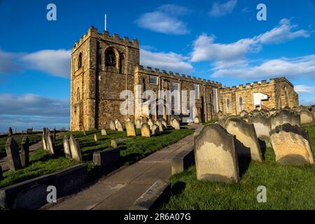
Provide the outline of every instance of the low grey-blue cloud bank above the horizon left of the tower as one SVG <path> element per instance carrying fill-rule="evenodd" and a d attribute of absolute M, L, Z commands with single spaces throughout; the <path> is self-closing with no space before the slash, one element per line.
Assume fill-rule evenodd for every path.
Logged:
<path fill-rule="evenodd" d="M 0 94 L 0 108 L 0 132 L 6 132 L 9 126 L 18 130 L 69 127 L 69 99 Z"/>

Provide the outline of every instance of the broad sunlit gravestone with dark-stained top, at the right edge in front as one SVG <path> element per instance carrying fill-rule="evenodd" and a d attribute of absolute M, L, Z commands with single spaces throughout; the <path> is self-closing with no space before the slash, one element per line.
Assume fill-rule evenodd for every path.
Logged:
<path fill-rule="evenodd" d="M 292 165 L 314 164 L 309 135 L 301 127 L 286 123 L 272 130 L 270 138 L 276 162 Z"/>

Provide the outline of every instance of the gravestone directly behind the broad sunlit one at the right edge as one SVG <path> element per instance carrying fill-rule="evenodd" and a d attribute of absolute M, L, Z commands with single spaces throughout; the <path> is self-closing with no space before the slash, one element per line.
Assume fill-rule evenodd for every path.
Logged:
<path fill-rule="evenodd" d="M 289 111 L 288 109 L 281 109 L 270 116 L 270 125 L 272 130 L 274 130 L 276 126 L 283 125 L 285 123 L 301 127 L 300 114 L 295 113 L 294 111 Z"/>

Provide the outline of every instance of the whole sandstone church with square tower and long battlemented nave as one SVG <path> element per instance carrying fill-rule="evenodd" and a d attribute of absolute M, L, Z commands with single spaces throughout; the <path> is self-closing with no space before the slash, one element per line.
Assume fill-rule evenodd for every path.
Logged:
<path fill-rule="evenodd" d="M 90 27 L 87 33 L 73 45 L 71 54 L 71 131 L 99 129 L 110 120 L 124 123 L 128 118 L 144 117 L 123 115 L 120 93 L 124 90 L 195 90 L 193 118 L 205 122 L 223 114 L 239 114 L 254 109 L 281 109 L 298 106 L 298 95 L 286 78 L 272 78 L 252 84 L 223 87 L 221 83 L 160 71 L 140 65 L 139 41 L 123 39 L 108 31 L 99 34 Z M 179 94 L 181 96 L 181 94 Z M 189 97 L 188 97 L 189 98 Z M 134 98 L 134 101 L 139 99 Z M 144 99 L 140 99 L 144 102 Z M 181 99 L 179 99 L 181 100 Z M 188 99 L 189 102 L 189 99 Z M 173 102 L 172 102 L 172 106 Z M 137 104 L 134 104 L 137 110 Z M 140 109 L 141 111 L 141 109 Z M 166 113 L 151 116 L 153 120 L 164 118 Z"/>

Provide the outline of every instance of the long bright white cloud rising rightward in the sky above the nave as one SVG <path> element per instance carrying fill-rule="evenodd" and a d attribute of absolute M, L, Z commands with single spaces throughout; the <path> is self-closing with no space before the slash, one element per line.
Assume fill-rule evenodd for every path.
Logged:
<path fill-rule="evenodd" d="M 241 59 L 250 52 L 260 52 L 264 44 L 283 43 L 294 38 L 309 37 L 309 31 L 300 29 L 293 31 L 297 25 L 291 25 L 290 20 L 283 19 L 274 29 L 254 36 L 242 38 L 234 43 L 214 43 L 215 36 L 200 35 L 193 43 L 191 53 L 192 62 L 200 61 L 227 61 Z"/>

